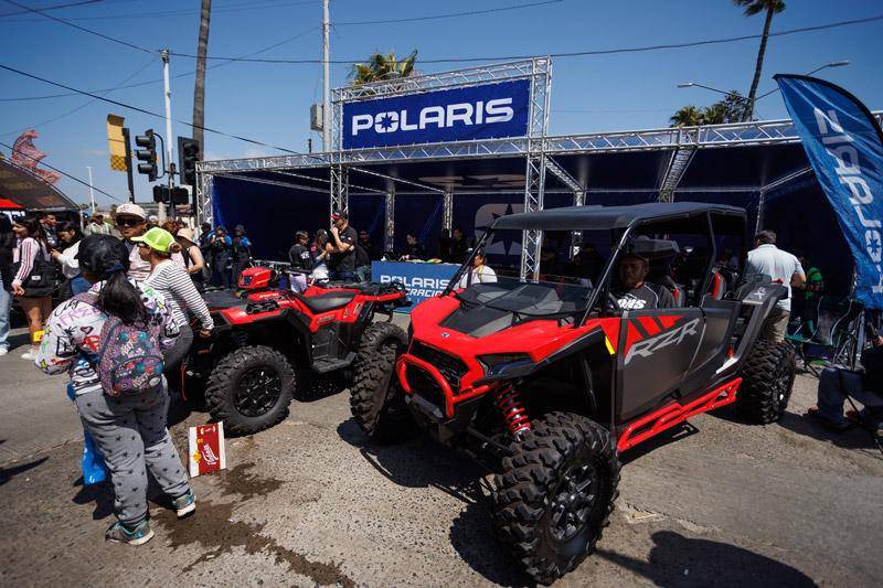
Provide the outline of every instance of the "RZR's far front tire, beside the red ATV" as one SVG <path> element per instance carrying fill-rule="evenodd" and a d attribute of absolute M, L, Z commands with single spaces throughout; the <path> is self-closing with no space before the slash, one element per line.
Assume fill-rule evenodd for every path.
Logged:
<path fill-rule="evenodd" d="M 406 345 L 405 332 L 389 322 L 373 323 L 359 343 L 350 409 L 359 427 L 374 441 L 403 440 L 417 432 L 395 375 L 395 360 Z"/>

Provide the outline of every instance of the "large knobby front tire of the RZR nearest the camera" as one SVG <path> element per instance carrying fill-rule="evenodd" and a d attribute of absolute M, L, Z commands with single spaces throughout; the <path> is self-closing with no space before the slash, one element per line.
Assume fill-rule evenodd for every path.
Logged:
<path fill-rule="evenodd" d="M 551 584 L 592 553 L 607 525 L 616 442 L 586 417 L 549 413 L 511 450 L 496 477 L 494 530 L 534 580 Z"/>

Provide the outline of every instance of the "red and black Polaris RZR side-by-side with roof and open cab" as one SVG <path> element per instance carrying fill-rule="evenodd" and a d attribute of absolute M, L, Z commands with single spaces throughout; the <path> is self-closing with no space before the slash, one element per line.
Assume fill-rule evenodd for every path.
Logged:
<path fill-rule="evenodd" d="M 413 309 L 409 335 L 387 325 L 357 362 L 355 421 L 375 439 L 416 423 L 490 458 L 500 541 L 553 581 L 599 539 L 620 452 L 731 403 L 754 423 L 784 413 L 794 354 L 758 335 L 787 290 L 743 279 L 745 225 L 741 209 L 699 203 L 498 218 Z M 526 231 L 543 247 L 521 280 L 503 266 Z"/>

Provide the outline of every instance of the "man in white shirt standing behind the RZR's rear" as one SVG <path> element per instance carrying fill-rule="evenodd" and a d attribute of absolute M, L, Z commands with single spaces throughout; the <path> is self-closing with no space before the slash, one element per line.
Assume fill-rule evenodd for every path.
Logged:
<path fill-rule="evenodd" d="M 791 288 L 804 286 L 807 276 L 797 257 L 776 247 L 776 234 L 772 231 L 759 232 L 754 237 L 754 247 L 748 252 L 745 276 L 763 274 L 773 278 L 774 282 L 788 288 L 787 298 L 776 302 L 776 307 L 769 312 L 760 336 L 767 341 L 784 341 L 788 330 L 788 318 L 791 314 Z"/>

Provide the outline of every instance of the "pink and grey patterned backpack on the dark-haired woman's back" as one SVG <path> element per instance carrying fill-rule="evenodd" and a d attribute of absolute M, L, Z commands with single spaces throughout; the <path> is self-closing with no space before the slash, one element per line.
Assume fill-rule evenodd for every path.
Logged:
<path fill-rule="evenodd" d="M 94 306 L 95 296 L 83 292 L 74 297 Z M 131 396 L 162 387 L 162 351 L 157 324 L 126 324 L 108 316 L 102 327 L 97 361 L 91 362 L 104 393 L 108 396 Z"/>

